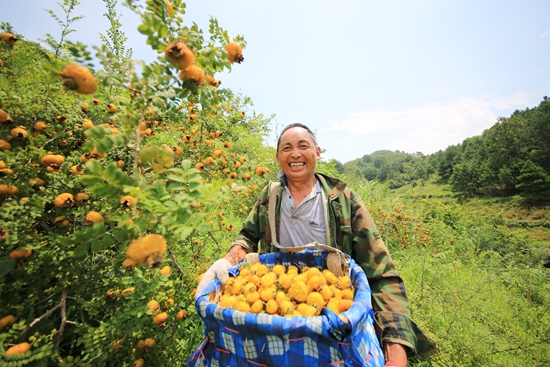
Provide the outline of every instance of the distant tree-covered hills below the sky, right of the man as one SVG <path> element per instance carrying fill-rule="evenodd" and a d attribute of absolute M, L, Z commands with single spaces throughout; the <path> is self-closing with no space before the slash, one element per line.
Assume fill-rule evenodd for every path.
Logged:
<path fill-rule="evenodd" d="M 434 154 L 380 150 L 335 164 L 340 173 L 387 182 L 390 188 L 435 177 L 463 197 L 520 195 L 550 202 L 550 99 L 500 117 L 483 134 Z"/>

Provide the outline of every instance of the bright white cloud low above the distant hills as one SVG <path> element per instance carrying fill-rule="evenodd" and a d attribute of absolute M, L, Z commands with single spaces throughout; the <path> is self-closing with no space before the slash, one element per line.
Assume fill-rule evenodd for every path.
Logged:
<path fill-rule="evenodd" d="M 377 149 L 431 154 L 462 143 L 468 137 L 480 135 L 483 130 L 493 126 L 499 116 L 503 116 L 498 114 L 500 110 L 523 108 L 529 103 L 527 93 L 516 93 L 500 99 L 462 98 L 448 104 L 430 103 L 401 111 L 379 108 L 329 122 L 326 128 L 320 130 L 326 136 L 333 137 L 333 141 L 328 144 L 332 147 L 349 146 L 349 137 L 352 136 L 357 141 L 375 140 Z M 339 137 L 342 141 L 347 139 L 348 144 L 338 143 L 336 140 Z M 353 155 L 357 158 L 371 152 L 355 151 Z"/>

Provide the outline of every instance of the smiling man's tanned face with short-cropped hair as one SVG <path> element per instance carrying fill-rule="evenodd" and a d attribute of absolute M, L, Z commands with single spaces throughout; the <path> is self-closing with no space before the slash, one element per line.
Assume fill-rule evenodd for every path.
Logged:
<path fill-rule="evenodd" d="M 289 181 L 313 177 L 315 164 L 320 156 L 321 148 L 315 148 L 313 140 L 304 128 L 290 128 L 281 137 L 277 161 Z"/>

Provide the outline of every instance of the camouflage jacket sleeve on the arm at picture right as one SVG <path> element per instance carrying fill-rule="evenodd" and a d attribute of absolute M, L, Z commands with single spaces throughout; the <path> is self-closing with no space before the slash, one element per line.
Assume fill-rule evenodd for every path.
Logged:
<path fill-rule="evenodd" d="M 372 291 L 380 340 L 407 347 L 420 358 L 435 353 L 435 342 L 411 320 L 403 279 L 363 201 L 351 193 L 351 256 L 365 271 Z"/>

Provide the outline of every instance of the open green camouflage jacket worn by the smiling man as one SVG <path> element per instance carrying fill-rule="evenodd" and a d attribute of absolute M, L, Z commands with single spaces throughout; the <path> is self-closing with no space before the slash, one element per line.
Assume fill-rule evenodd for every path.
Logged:
<path fill-rule="evenodd" d="M 376 229 L 362 199 L 346 183 L 316 173 L 323 188 L 325 210 L 328 210 L 330 244 L 350 255 L 363 268 L 372 291 L 376 331 L 384 342 L 399 343 L 409 356 L 427 357 L 435 353 L 435 342 L 411 320 L 409 302 L 403 280 L 395 270 L 388 249 Z M 233 242 L 248 252 L 273 252 L 268 218 L 270 186 L 261 192 Z M 275 225 L 280 223 L 280 202 L 283 186 L 279 187 Z M 328 236 L 327 236 L 328 237 Z"/>

